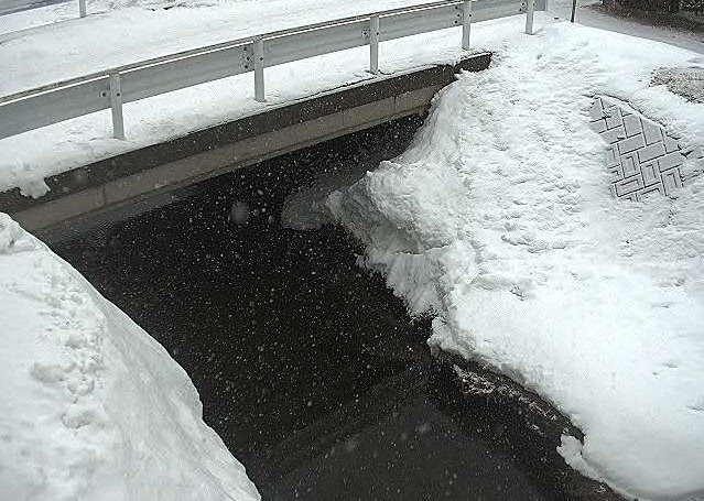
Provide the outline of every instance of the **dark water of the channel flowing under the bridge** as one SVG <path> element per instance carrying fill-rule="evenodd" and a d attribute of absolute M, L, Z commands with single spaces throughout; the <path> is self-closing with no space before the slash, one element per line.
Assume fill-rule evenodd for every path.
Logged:
<path fill-rule="evenodd" d="M 415 127 L 286 155 L 50 242 L 184 367 L 264 499 L 555 499 L 499 426 L 445 409 L 429 323 L 356 265 L 356 243 L 280 224 L 285 196 L 321 170 L 372 168 Z M 235 203 L 246 225 L 230 220 Z"/>

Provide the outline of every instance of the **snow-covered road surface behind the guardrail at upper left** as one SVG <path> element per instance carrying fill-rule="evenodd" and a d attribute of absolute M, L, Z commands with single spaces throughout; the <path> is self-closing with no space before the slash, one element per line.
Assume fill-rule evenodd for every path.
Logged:
<path fill-rule="evenodd" d="M 427 0 L 184 1 L 169 10 L 161 8 L 169 2 L 156 8 L 154 3 L 134 1 L 108 10 L 115 7 L 111 0 L 89 0 L 93 11 L 105 12 L 14 32 L 12 15 L 0 17 L 0 67 L 12 75 L 0 79 L 0 96 L 230 40 Z"/>

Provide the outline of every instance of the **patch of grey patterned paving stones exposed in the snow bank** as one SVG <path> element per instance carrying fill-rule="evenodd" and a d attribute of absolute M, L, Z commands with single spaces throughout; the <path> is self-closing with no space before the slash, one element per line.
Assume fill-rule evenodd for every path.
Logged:
<path fill-rule="evenodd" d="M 684 155 L 660 126 L 604 97 L 596 98 L 589 117 L 592 129 L 608 144 L 611 195 L 637 202 L 654 193 L 670 196 L 682 187 Z"/>

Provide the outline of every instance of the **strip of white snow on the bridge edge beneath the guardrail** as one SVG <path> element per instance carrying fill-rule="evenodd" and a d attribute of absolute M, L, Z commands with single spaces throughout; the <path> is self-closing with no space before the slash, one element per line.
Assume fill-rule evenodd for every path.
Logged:
<path fill-rule="evenodd" d="M 344 15 L 343 11 L 335 12 Z M 544 21 L 544 15 L 541 14 L 539 12 L 535 17 L 537 23 Z M 301 24 L 306 19 L 312 20 L 313 14 L 310 15 L 295 22 L 288 21 Z M 473 26 L 474 51 L 490 50 L 491 37 L 488 35 L 495 31 L 512 30 L 520 35 L 524 19 L 523 15 L 518 15 L 516 20 L 500 19 L 477 23 Z M 236 33 L 230 33 L 229 37 L 235 35 Z M 467 54 L 461 48 L 461 40 L 462 30 L 450 29 L 385 42 L 380 47 L 380 69 L 388 75 L 436 64 L 455 64 Z M 136 47 L 131 50 L 137 51 Z M 141 58 L 141 52 L 139 54 Z M 12 58 L 11 64 L 18 67 L 28 66 L 21 52 L 0 45 L 0 66 L 3 57 Z M 44 177 L 183 137 L 270 107 L 373 78 L 367 72 L 368 65 L 369 48 L 358 47 L 268 68 L 266 104 L 253 99 L 251 74 L 129 102 L 124 106 L 127 141 L 111 138 L 109 110 L 2 139 L 0 192 L 20 187 L 26 196 L 41 196 L 47 189 Z M 90 68 L 97 69 L 93 66 Z"/>

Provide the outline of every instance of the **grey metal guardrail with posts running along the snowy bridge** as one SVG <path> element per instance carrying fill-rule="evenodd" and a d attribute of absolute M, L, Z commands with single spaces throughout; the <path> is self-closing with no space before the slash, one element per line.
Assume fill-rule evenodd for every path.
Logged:
<path fill-rule="evenodd" d="M 544 0 L 538 0 L 544 10 Z M 379 73 L 379 43 L 526 14 L 533 32 L 535 0 L 444 0 L 310 24 L 185 51 L 0 97 L 0 139 L 111 109 L 112 131 L 124 139 L 122 106 L 185 87 L 254 73 L 254 99 L 264 101 L 264 68 L 369 45 L 369 72 Z"/>

